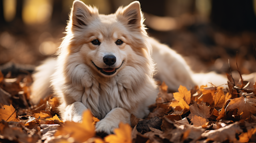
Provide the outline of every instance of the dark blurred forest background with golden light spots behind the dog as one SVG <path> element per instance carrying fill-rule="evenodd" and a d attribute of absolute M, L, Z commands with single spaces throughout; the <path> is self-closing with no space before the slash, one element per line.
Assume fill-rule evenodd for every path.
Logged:
<path fill-rule="evenodd" d="M 111 14 L 133 0 L 81 0 Z M 73 0 L 0 0 L 0 67 L 54 57 Z M 140 0 L 148 33 L 194 72 L 256 72 L 256 0 Z M 236 58 L 236 53 L 238 57 Z M 29 66 L 33 68 L 33 66 Z"/>

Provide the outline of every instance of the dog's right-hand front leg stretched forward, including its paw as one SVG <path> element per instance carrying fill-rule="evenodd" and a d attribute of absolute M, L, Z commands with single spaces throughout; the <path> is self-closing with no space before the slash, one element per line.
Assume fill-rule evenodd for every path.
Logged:
<path fill-rule="evenodd" d="M 96 123 L 96 132 L 111 134 L 113 129 L 118 128 L 120 122 L 131 124 L 131 114 L 123 108 L 112 109 L 104 119 Z"/>

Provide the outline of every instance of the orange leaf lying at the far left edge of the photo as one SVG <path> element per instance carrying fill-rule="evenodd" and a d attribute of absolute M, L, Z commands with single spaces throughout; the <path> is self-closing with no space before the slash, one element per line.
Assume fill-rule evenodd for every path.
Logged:
<path fill-rule="evenodd" d="M 17 112 L 12 106 L 3 105 L 3 109 L 0 109 L 0 120 L 6 120 L 6 121 L 14 121 L 19 122 L 20 120 L 17 118 Z"/>

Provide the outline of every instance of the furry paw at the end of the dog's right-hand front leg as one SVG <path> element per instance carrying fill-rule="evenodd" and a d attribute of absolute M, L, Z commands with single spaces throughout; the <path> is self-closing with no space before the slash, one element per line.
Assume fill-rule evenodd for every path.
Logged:
<path fill-rule="evenodd" d="M 96 123 L 96 132 L 111 134 L 115 128 L 118 128 L 118 124 L 119 123 L 115 123 L 112 120 L 102 119 Z"/>

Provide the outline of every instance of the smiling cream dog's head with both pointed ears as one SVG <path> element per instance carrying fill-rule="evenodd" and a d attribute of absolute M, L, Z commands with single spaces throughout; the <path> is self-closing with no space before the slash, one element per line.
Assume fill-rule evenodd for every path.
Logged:
<path fill-rule="evenodd" d="M 78 53 L 83 63 L 104 77 L 116 75 L 125 66 L 145 66 L 151 46 L 143 21 L 138 1 L 115 14 L 102 15 L 76 0 L 67 26 L 68 52 Z"/>

